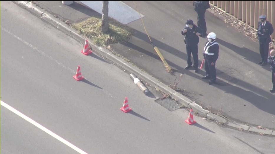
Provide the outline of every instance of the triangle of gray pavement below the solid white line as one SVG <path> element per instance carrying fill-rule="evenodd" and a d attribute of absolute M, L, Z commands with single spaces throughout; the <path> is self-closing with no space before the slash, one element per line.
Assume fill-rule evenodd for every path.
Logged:
<path fill-rule="evenodd" d="M 1 153 L 77 153 L 1 106 Z"/>

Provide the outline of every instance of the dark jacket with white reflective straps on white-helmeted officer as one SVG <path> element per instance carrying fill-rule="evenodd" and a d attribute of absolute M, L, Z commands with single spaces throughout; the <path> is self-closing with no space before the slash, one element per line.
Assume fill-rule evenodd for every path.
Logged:
<path fill-rule="evenodd" d="M 210 62 L 213 62 L 214 64 L 216 63 L 219 57 L 219 45 L 216 40 L 211 43 L 208 41 L 205 43 L 205 47 L 203 48 L 203 57 L 210 60 Z"/>

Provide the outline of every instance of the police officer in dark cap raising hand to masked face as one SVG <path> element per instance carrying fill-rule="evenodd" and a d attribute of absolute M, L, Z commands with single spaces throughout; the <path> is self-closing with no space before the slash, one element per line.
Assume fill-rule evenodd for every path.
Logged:
<path fill-rule="evenodd" d="M 199 37 L 205 35 L 205 32 L 196 26 L 192 20 L 188 19 L 185 23 L 183 30 L 181 31 L 181 34 L 185 36 L 184 43 L 186 45 L 186 52 L 187 52 L 187 65 L 185 69 L 189 69 L 192 66 L 191 62 L 191 53 L 193 55 L 194 60 L 194 70 L 195 72 L 198 72 L 198 43 L 199 43 Z"/>

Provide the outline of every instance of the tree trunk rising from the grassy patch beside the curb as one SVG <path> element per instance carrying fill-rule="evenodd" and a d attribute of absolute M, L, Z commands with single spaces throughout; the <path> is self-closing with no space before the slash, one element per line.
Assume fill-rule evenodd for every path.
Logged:
<path fill-rule="evenodd" d="M 102 18 L 101 18 L 101 32 L 107 33 L 109 30 L 109 1 L 103 1 Z"/>

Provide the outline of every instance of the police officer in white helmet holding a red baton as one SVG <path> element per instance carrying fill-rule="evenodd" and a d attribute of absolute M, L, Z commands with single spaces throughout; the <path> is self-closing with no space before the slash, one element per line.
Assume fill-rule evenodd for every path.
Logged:
<path fill-rule="evenodd" d="M 205 47 L 203 49 L 203 57 L 205 58 L 205 71 L 206 75 L 202 77 L 203 79 L 211 78 L 211 81 L 208 84 L 213 84 L 216 82 L 217 74 L 216 74 L 216 61 L 219 57 L 219 45 L 216 41 L 216 34 L 211 32 L 207 36 L 208 42 L 206 42 Z"/>

